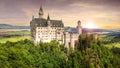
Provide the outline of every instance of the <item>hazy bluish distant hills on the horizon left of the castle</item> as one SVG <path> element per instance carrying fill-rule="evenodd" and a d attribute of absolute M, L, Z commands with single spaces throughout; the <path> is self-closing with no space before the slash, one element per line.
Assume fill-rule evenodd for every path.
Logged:
<path fill-rule="evenodd" d="M 0 24 L 0 29 L 30 29 L 30 26 L 13 26 L 9 24 Z"/>

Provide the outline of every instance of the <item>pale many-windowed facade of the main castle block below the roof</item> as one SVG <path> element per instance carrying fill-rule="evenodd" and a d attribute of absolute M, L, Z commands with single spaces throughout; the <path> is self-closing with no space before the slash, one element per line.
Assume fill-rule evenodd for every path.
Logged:
<path fill-rule="evenodd" d="M 36 42 L 50 42 L 57 40 L 62 43 L 62 30 L 60 27 L 37 27 L 36 28 Z"/>

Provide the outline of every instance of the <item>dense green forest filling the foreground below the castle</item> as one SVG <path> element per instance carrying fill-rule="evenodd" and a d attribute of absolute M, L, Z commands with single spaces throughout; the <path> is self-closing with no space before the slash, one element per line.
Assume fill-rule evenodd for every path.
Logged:
<path fill-rule="evenodd" d="M 0 68 L 120 68 L 120 55 L 91 36 L 79 36 L 76 49 L 53 40 L 35 45 L 30 40 L 0 43 Z"/>

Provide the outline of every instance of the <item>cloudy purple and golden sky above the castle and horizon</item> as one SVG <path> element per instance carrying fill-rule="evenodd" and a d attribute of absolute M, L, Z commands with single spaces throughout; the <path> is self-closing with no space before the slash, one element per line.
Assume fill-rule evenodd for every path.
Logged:
<path fill-rule="evenodd" d="M 0 0 L 0 24 L 29 26 L 32 16 L 39 17 L 42 6 L 44 18 L 62 20 L 65 26 L 120 29 L 120 0 Z"/>

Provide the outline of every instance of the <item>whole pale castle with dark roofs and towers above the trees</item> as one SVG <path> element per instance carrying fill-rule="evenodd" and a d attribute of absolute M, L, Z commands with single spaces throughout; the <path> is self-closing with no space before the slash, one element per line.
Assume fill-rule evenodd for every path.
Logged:
<path fill-rule="evenodd" d="M 75 44 L 80 34 L 82 34 L 81 22 L 78 21 L 77 28 L 74 31 L 70 28 L 64 28 L 62 20 L 51 20 L 49 15 L 47 19 L 43 18 L 42 7 L 39 10 L 39 18 L 34 18 L 30 22 L 31 39 L 36 43 L 50 42 L 57 40 L 67 48 L 75 48 Z"/>

